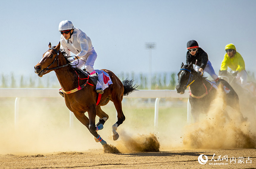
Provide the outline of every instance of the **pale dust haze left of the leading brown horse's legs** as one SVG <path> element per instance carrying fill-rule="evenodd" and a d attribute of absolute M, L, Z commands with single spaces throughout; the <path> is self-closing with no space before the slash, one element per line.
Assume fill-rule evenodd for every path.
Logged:
<path fill-rule="evenodd" d="M 14 107 L 14 102 L 5 102 Z M 19 117 L 1 105 L 0 154 L 47 154 L 102 148 L 88 129 L 74 118 L 69 126 L 69 110 L 63 98 L 21 98 Z"/>

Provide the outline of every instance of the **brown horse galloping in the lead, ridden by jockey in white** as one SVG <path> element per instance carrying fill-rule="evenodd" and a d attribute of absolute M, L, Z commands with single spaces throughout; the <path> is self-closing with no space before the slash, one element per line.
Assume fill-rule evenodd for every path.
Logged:
<path fill-rule="evenodd" d="M 110 75 L 113 84 L 104 90 L 104 94 L 98 95 L 95 90 L 96 86 L 93 85 L 89 76 L 82 73 L 82 70 L 72 67 L 67 57 L 65 51 L 60 49 L 60 43 L 53 47 L 49 43 L 49 49 L 35 66 L 35 73 L 42 77 L 52 70 L 55 71 L 62 90 L 72 91 L 69 94 L 64 92 L 66 106 L 102 145 L 107 143 L 98 135 L 97 131 L 103 128 L 108 115 L 102 111 L 101 106 L 106 105 L 111 100 L 115 105 L 118 118 L 118 121 L 112 126 L 112 138 L 117 140 L 119 137 L 116 132 L 117 127 L 125 120 L 121 101 L 123 96 L 135 90 L 136 87 L 132 84 L 133 80 L 121 82 L 113 72 L 103 69 Z M 100 96 L 101 99 L 97 99 Z M 88 118 L 85 116 L 85 112 L 88 112 Z M 100 118 L 97 125 L 95 125 L 96 115 Z"/>

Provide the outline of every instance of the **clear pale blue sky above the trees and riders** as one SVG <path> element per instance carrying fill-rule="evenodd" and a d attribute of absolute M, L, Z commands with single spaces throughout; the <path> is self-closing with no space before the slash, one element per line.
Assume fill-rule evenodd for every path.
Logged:
<path fill-rule="evenodd" d="M 178 72 L 186 62 L 186 44 L 196 40 L 208 54 L 216 73 L 226 44 L 233 43 L 256 72 L 256 1 L 3 1 L 0 73 L 29 75 L 48 44 L 60 41 L 58 25 L 70 20 L 92 40 L 98 54 L 94 68 L 118 74 Z"/>

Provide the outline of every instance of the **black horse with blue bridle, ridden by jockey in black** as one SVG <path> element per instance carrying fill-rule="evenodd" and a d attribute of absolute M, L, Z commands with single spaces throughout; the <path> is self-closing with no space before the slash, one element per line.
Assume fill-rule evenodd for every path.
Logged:
<path fill-rule="evenodd" d="M 189 102 L 191 104 L 191 113 L 195 122 L 199 120 L 200 113 L 206 113 L 209 110 L 210 103 L 216 96 L 216 88 L 214 84 L 202 75 L 199 75 L 196 70 L 193 69 L 193 65 L 184 65 L 182 63 L 181 69 L 178 73 L 178 84 L 176 90 L 180 94 L 184 94 L 185 89 L 190 87 L 190 96 Z M 220 85 L 225 85 L 230 91 L 224 95 L 224 100 L 230 107 L 238 110 L 239 107 L 239 98 L 234 89 L 224 81 L 220 79 Z M 241 114 L 241 120 L 243 120 L 243 115 Z"/>

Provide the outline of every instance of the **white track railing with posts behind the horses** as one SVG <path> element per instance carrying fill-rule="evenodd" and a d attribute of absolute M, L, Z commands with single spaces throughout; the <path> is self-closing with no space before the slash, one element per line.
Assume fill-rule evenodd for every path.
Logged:
<path fill-rule="evenodd" d="M 124 98 L 156 98 L 154 111 L 154 126 L 158 126 L 158 107 L 161 98 L 188 98 L 189 93 L 178 94 L 176 90 L 137 90 Z M 14 122 L 17 123 L 19 115 L 19 100 L 21 97 L 61 97 L 57 88 L 0 88 L 0 97 L 14 97 L 15 115 Z M 74 115 L 70 112 L 70 127 L 73 125 Z M 187 104 L 187 120 L 190 121 L 190 104 Z"/>

